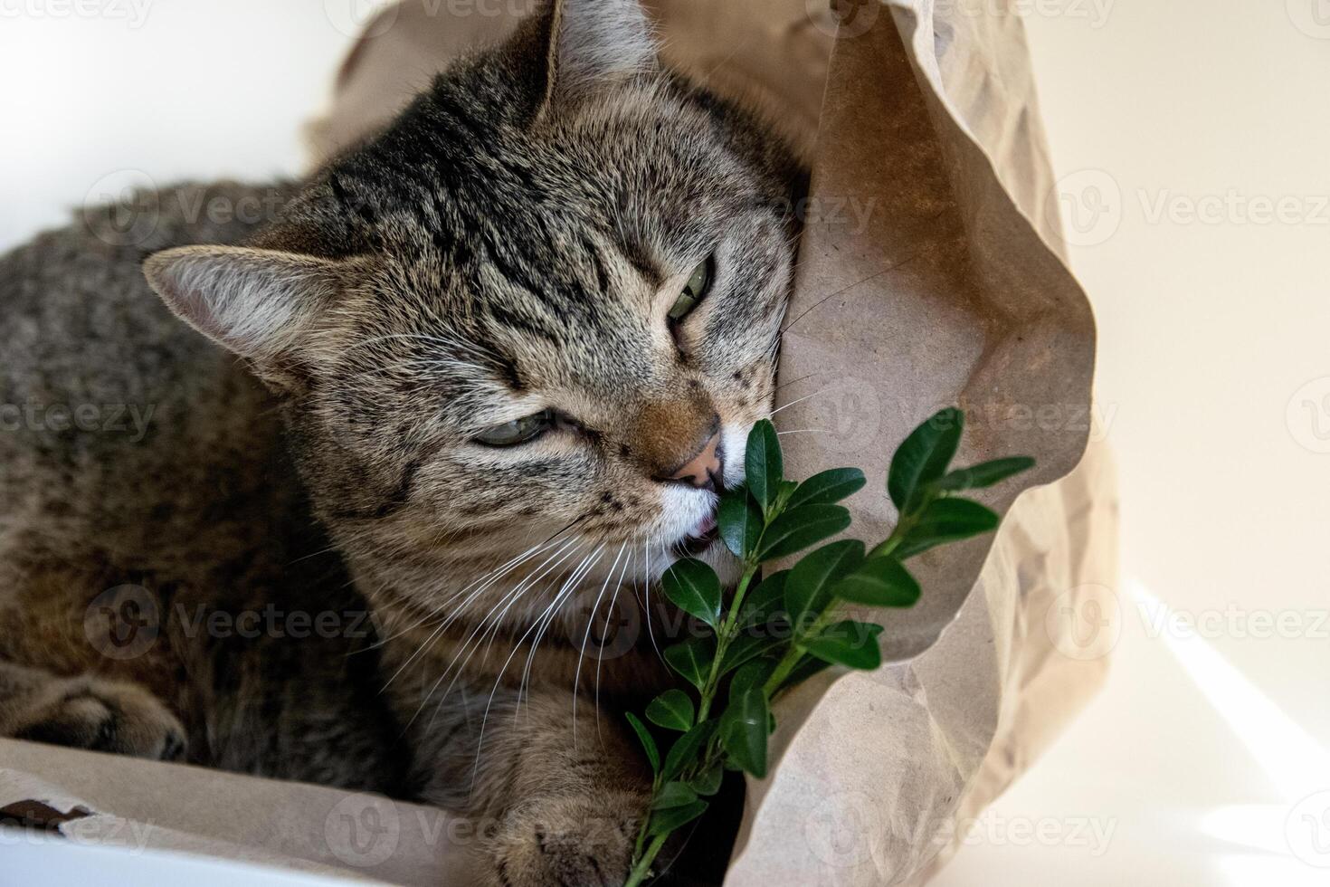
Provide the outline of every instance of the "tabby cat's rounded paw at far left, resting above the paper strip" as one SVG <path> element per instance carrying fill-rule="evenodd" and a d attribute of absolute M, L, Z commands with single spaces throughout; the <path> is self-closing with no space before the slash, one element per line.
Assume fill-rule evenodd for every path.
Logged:
<path fill-rule="evenodd" d="M 134 684 L 97 678 L 63 685 L 13 738 L 158 761 L 185 754 L 185 727 L 157 697 Z"/>

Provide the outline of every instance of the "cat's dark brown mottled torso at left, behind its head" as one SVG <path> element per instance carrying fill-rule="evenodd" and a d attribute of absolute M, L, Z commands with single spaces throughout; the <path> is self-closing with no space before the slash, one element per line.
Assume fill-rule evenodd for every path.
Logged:
<path fill-rule="evenodd" d="M 201 207 L 293 193 L 140 194 L 0 258 L 0 734 L 398 790 L 378 656 L 346 656 L 374 625 L 277 402 L 140 267 L 254 234 Z"/>

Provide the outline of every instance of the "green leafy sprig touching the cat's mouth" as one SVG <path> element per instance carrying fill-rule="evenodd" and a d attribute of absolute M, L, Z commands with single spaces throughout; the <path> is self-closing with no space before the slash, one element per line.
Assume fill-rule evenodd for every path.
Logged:
<path fill-rule="evenodd" d="M 706 811 L 706 798 L 720 791 L 725 770 L 766 777 L 773 699 L 831 665 L 871 670 L 882 664 L 882 625 L 838 618 L 841 604 L 912 606 L 920 589 L 906 559 L 996 529 L 995 512 L 958 493 L 992 487 L 1032 468 L 1035 460 L 998 459 L 948 471 L 963 430 L 960 410 L 942 410 L 896 449 L 887 493 L 899 520 L 879 544 L 866 549 L 855 539 L 833 541 L 790 569 L 762 576 L 765 564 L 846 531 L 850 512 L 838 503 L 866 480 L 858 468 L 833 468 L 802 483 L 786 480 L 775 428 L 767 420 L 753 427 L 745 483 L 722 493 L 717 509 L 720 537 L 742 561 L 729 602 L 716 570 L 702 561 L 676 561 L 661 577 L 670 602 L 708 630 L 665 648 L 665 661 L 686 686 L 665 690 L 646 705 L 644 715 L 657 731 L 626 714 L 653 773 L 650 810 L 637 835 L 626 887 L 653 875 L 661 847 Z M 762 628 L 767 630 L 757 630 Z M 718 706 L 722 696 L 725 705 Z M 656 738 L 662 730 L 677 734 L 664 755 Z"/>

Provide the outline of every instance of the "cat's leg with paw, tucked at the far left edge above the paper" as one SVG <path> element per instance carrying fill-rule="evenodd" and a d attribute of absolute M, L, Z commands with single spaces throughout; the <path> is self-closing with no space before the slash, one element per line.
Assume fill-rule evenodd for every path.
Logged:
<path fill-rule="evenodd" d="M 185 729 L 149 690 L 0 662 L 0 737 L 174 761 Z"/>

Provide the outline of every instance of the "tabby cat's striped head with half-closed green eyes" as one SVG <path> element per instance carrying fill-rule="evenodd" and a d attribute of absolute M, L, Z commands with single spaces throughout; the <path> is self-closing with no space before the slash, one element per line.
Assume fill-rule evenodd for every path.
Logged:
<path fill-rule="evenodd" d="M 569 0 L 440 74 L 253 246 L 145 267 L 282 392 L 367 592 L 492 613 L 525 577 L 523 622 L 681 552 L 733 574 L 708 541 L 771 410 L 801 177 L 658 68 L 633 0 Z"/>

